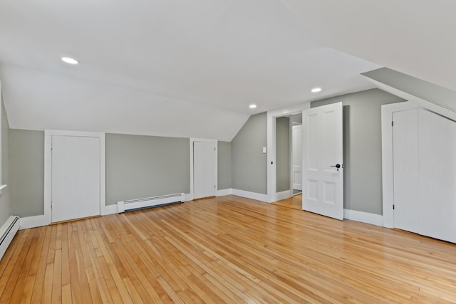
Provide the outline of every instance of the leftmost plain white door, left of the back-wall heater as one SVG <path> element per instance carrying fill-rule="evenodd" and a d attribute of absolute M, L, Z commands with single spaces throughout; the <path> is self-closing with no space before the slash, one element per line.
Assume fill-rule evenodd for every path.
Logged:
<path fill-rule="evenodd" d="M 100 214 L 100 138 L 52 136 L 52 221 Z"/>

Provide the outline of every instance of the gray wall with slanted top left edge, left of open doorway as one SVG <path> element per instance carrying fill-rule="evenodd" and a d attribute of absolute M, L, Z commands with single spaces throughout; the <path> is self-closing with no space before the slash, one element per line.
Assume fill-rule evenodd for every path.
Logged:
<path fill-rule="evenodd" d="M 252 115 L 231 142 L 232 188 L 266 194 L 266 112 Z"/>

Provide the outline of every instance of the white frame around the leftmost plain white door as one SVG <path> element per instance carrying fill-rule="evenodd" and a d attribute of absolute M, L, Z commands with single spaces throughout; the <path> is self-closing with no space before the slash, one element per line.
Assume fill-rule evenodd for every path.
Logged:
<path fill-rule="evenodd" d="M 106 214 L 106 193 L 105 193 L 105 133 L 100 132 L 78 132 L 63 130 L 44 130 L 44 218 L 43 225 L 52 222 L 52 137 L 76 136 L 76 137 L 98 137 L 100 138 L 100 214 Z M 38 225 L 39 226 L 39 225 Z"/>

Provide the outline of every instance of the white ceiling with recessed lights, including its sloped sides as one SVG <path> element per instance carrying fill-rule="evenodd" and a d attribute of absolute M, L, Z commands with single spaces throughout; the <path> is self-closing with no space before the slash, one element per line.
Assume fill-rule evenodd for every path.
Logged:
<path fill-rule="evenodd" d="M 251 114 L 372 88 L 359 74 L 382 65 L 454 89 L 455 3 L 0 0 L 6 111 L 13 128 L 232 140 Z"/>

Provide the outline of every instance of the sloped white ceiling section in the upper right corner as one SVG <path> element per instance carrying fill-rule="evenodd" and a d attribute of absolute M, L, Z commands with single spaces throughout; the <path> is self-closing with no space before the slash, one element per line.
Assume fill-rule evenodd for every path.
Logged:
<path fill-rule="evenodd" d="M 456 90 L 455 0 L 281 0 L 326 46 Z"/>

